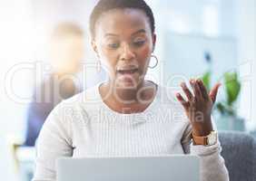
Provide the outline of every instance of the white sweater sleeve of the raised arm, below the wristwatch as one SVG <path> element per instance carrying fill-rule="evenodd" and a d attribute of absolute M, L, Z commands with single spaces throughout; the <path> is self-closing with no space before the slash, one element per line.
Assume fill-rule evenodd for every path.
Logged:
<path fill-rule="evenodd" d="M 212 119 L 213 129 L 216 125 Z M 201 146 L 192 144 L 192 125 L 189 123 L 182 138 L 184 153 L 197 155 L 200 158 L 200 180 L 201 181 L 229 181 L 229 173 L 225 161 L 221 156 L 222 146 L 217 143 L 212 146 Z"/>

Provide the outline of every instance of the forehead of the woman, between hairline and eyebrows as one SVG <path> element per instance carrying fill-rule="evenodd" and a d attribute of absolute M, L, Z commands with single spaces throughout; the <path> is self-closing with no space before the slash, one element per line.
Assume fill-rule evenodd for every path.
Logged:
<path fill-rule="evenodd" d="M 95 25 L 96 34 L 127 33 L 129 35 L 140 29 L 150 33 L 150 20 L 142 10 L 134 8 L 110 10 L 102 14 Z"/>

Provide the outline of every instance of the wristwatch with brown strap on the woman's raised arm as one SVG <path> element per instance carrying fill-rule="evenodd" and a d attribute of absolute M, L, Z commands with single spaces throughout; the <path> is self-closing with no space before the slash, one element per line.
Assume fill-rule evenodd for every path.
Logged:
<path fill-rule="evenodd" d="M 212 130 L 211 133 L 205 137 L 194 136 L 192 134 L 193 145 L 212 146 L 217 142 L 217 132 Z"/>

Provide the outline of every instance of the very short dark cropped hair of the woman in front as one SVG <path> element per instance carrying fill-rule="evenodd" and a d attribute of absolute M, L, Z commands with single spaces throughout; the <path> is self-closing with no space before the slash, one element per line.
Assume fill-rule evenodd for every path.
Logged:
<path fill-rule="evenodd" d="M 95 24 L 99 17 L 113 9 L 135 8 L 142 10 L 149 18 L 152 33 L 155 31 L 153 11 L 144 0 L 100 0 L 97 5 L 94 6 L 94 10 L 90 16 L 90 33 L 92 37 L 95 36 Z"/>

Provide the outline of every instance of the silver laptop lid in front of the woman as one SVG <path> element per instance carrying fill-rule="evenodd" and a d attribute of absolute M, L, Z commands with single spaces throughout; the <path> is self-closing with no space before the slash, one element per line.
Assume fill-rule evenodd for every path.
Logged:
<path fill-rule="evenodd" d="M 199 157 L 63 157 L 57 181 L 199 181 Z"/>

